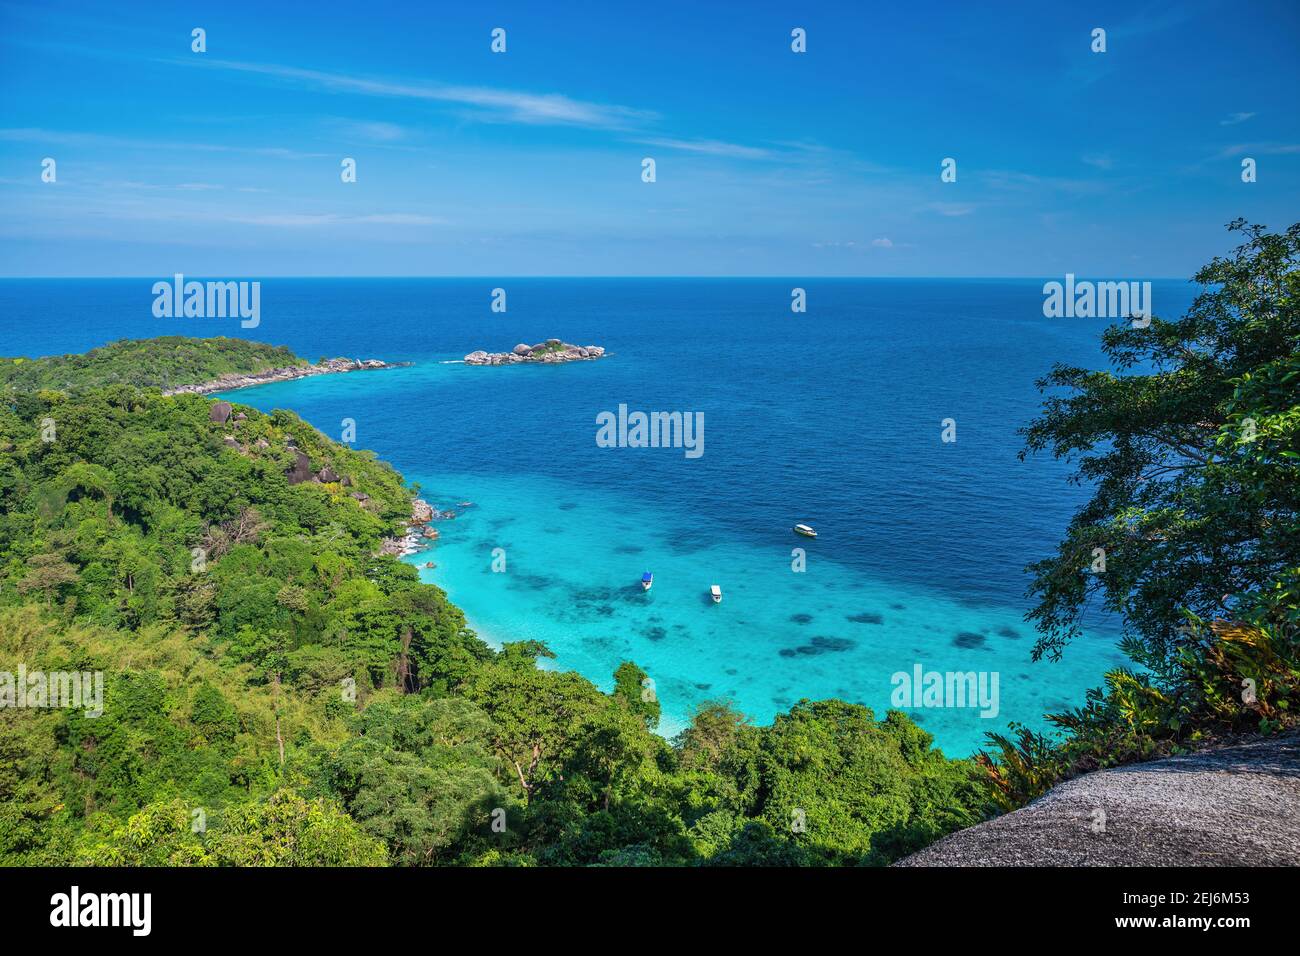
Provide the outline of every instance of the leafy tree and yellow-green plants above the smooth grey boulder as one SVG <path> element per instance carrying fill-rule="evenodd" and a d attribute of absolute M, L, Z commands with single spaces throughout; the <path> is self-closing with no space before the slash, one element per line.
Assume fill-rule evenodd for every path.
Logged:
<path fill-rule="evenodd" d="M 1249 734 L 1300 713 L 1300 224 L 1196 274 L 1176 321 L 1102 337 L 1114 371 L 1057 367 L 1027 453 L 1076 462 L 1095 488 L 1058 553 L 1031 567 L 1036 653 L 1057 656 L 1100 604 L 1138 665 L 1082 708 L 979 758 L 1014 809 L 1074 774 Z M 1093 557 L 1105 550 L 1105 571 Z"/>

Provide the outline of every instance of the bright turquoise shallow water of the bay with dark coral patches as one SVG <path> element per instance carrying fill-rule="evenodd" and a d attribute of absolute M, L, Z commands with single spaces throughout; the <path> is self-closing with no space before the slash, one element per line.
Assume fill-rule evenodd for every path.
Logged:
<path fill-rule="evenodd" d="M 1096 640 L 1074 648 L 1066 663 L 1031 663 L 1032 632 L 1015 609 L 866 579 L 835 561 L 833 532 L 805 541 L 772 528 L 770 541 L 738 541 L 707 519 L 629 507 L 620 496 L 562 481 L 419 480 L 438 505 L 474 502 L 411 558 L 436 562 L 421 578 L 469 609 L 484 637 L 546 641 L 559 666 L 606 688 L 619 662 L 636 661 L 655 682 L 667 734 L 716 697 L 764 722 L 801 697 L 841 697 L 883 714 L 890 675 L 911 674 L 919 662 L 1000 674 L 997 718 L 971 708 L 911 711 L 948 752 L 967 753 L 1011 715 L 1078 702 L 1076 692 L 1119 659 L 1109 641 Z M 677 536 L 688 529 L 701 532 L 699 542 L 682 548 Z M 807 553 L 802 574 L 790 570 L 797 546 Z M 504 572 L 491 570 L 495 548 L 504 550 Z M 649 568 L 655 581 L 646 593 L 638 581 Z M 707 593 L 715 583 L 720 605 Z M 974 646 L 954 646 L 959 635 Z"/>

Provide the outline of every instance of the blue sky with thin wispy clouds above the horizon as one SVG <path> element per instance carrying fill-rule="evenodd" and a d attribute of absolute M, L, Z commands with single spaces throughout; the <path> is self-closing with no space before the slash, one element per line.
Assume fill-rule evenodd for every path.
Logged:
<path fill-rule="evenodd" d="M 0 3 L 0 274 L 1182 277 L 1297 88 L 1295 0 Z"/>

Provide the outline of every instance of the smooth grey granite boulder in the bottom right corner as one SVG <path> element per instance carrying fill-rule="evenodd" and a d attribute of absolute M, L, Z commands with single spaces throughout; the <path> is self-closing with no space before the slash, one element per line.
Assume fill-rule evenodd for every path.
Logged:
<path fill-rule="evenodd" d="M 1296 866 L 1300 736 L 1098 770 L 896 866 Z"/>

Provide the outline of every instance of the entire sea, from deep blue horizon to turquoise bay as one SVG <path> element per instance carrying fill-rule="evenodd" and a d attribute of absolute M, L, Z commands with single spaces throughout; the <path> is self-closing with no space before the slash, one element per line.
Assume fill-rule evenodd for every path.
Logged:
<path fill-rule="evenodd" d="M 272 278 L 256 329 L 155 319 L 152 284 L 0 281 L 0 354 L 225 334 L 311 360 L 413 363 L 226 397 L 291 408 L 334 438 L 355 420 L 356 446 L 460 512 L 411 558 L 437 564 L 421 575 L 485 639 L 542 640 L 554 666 L 602 687 L 636 661 L 664 732 L 711 698 L 760 722 L 802 697 L 883 715 L 892 675 L 918 663 L 996 672 L 996 717 L 910 711 L 965 754 L 1009 721 L 1043 727 L 1122 659 L 1104 618 L 1063 661 L 1030 658 L 1024 566 L 1050 553 L 1087 489 L 1061 463 L 1018 460 L 1017 429 L 1054 362 L 1101 367 L 1108 324 L 1045 319 L 1043 280 Z M 498 286 L 504 313 L 490 308 Z M 806 313 L 790 311 L 794 286 Z M 1156 282 L 1156 313 L 1180 315 L 1193 293 Z M 549 337 L 611 355 L 456 364 Z M 703 454 L 599 447 L 597 415 L 620 403 L 703 412 Z M 941 441 L 944 419 L 956 442 Z M 796 537 L 796 522 L 819 537 Z"/>

